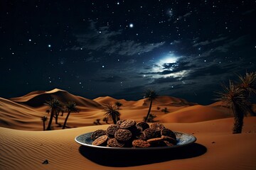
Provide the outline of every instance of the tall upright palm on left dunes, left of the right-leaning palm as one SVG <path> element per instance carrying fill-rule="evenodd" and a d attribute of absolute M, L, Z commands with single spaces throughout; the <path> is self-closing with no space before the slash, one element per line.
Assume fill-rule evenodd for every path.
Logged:
<path fill-rule="evenodd" d="M 50 99 L 50 101 L 46 101 L 46 105 L 49 106 L 49 108 L 50 108 L 50 120 L 49 120 L 48 127 L 46 128 L 46 130 L 50 130 L 51 129 L 50 125 L 53 122 L 53 116 L 58 111 L 60 111 L 60 109 L 63 108 L 63 105 L 56 98 L 52 98 L 52 99 Z"/>

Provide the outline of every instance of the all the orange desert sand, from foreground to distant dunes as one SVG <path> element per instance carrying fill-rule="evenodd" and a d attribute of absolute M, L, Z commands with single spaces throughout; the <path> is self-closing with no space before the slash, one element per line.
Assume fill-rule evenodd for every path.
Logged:
<path fill-rule="evenodd" d="M 80 113 L 71 113 L 65 130 L 53 121 L 43 131 L 43 105 L 49 98 L 75 101 Z M 102 104 L 123 104 L 120 118 L 141 121 L 149 101 L 126 101 L 110 96 L 93 100 L 67 91 L 33 91 L 17 98 L 0 98 L 0 169 L 256 169 L 256 117 L 245 117 L 241 134 L 232 134 L 233 115 L 223 103 L 201 106 L 181 98 L 159 96 L 151 113 L 166 128 L 194 135 L 195 143 L 155 151 L 107 151 L 79 145 L 75 137 L 109 125 L 102 121 Z M 159 109 L 160 108 L 160 109 Z M 167 108 L 168 113 L 161 109 Z M 100 119 L 102 125 L 95 125 Z M 109 123 L 112 123 L 109 121 Z M 48 122 L 46 122 L 46 125 Z M 42 164 L 45 160 L 48 164 Z"/>

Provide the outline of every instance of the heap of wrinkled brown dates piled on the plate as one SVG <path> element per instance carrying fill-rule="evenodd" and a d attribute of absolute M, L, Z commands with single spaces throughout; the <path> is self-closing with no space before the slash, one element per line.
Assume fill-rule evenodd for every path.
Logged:
<path fill-rule="evenodd" d="M 102 147 L 171 147 L 176 145 L 176 135 L 161 123 L 136 123 L 119 120 L 107 130 L 92 132 L 92 145 Z"/>

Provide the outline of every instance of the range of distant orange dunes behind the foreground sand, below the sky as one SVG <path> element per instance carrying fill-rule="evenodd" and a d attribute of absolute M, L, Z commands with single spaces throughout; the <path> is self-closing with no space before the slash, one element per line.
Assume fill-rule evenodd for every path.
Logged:
<path fill-rule="evenodd" d="M 144 98 L 139 101 L 126 101 L 110 96 L 90 100 L 60 89 L 33 91 L 25 96 L 11 98 L 11 100 L 0 99 L 1 105 L 4 106 L 0 108 L 0 126 L 19 130 L 42 130 L 43 123 L 41 117 L 46 115 L 49 118 L 49 115 L 46 113 L 48 107 L 44 103 L 46 103 L 48 98 L 53 97 L 63 102 L 75 101 L 78 103 L 80 113 L 71 113 L 68 119 L 68 128 L 94 125 L 97 119 L 100 119 L 101 124 L 106 124 L 102 121 L 105 117 L 102 104 L 115 103 L 117 101 L 122 103 L 121 110 L 119 111 L 121 113 L 120 118 L 141 121 L 146 116 L 150 102 Z M 162 112 L 161 109 L 163 108 L 167 108 L 168 113 Z M 156 98 L 153 102 L 151 113 L 156 115 L 155 120 L 160 123 L 194 123 L 229 118 L 231 116 L 229 109 L 223 107 L 222 103 L 201 106 L 171 96 L 159 96 Z M 59 116 L 59 124 L 52 124 L 55 130 L 60 129 L 61 125 L 63 125 L 65 114 L 64 116 Z"/>

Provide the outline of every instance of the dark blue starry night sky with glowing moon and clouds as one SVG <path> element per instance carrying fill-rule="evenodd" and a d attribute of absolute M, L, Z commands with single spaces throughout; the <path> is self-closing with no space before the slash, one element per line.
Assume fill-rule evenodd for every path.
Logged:
<path fill-rule="evenodd" d="M 209 104 L 255 72 L 256 1 L 0 2 L 0 96 L 159 95 Z"/>

